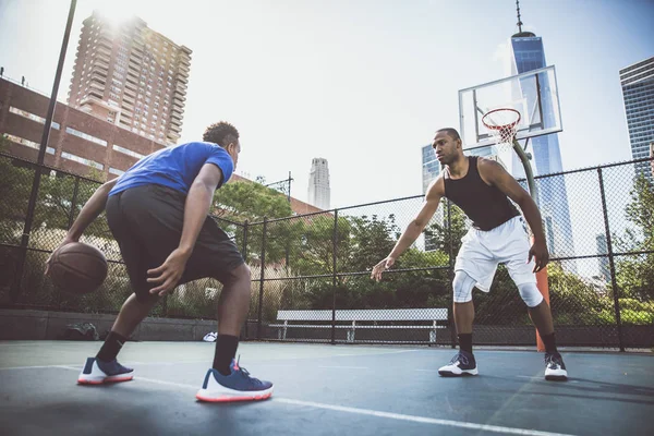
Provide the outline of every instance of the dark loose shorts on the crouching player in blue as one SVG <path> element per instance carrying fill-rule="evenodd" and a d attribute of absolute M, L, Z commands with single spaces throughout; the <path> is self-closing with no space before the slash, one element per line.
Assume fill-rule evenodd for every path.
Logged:
<path fill-rule="evenodd" d="M 158 284 L 147 282 L 147 270 L 164 264 L 179 246 L 185 201 L 181 192 L 157 184 L 131 187 L 107 201 L 107 221 L 138 301 L 157 298 L 149 293 Z M 225 283 L 243 263 L 237 245 L 207 216 L 178 284 L 209 277 Z"/>

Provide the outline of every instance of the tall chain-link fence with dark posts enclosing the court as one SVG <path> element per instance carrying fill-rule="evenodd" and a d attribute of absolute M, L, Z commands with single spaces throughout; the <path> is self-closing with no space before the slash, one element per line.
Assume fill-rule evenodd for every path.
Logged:
<path fill-rule="evenodd" d="M 645 160 L 536 178 L 552 258 L 550 305 L 562 346 L 654 347 L 654 190 L 634 169 Z M 102 250 L 109 262 L 107 280 L 97 292 L 61 293 L 43 274 L 45 261 L 98 182 L 46 168 L 25 244 L 22 233 L 35 170 L 32 162 L 0 155 L 0 305 L 118 313 L 131 289 L 104 216 L 82 239 Z M 253 221 L 214 216 L 251 267 L 244 336 L 453 346 L 453 262 L 470 228 L 458 207 L 444 201 L 384 279 L 370 277 L 421 204 L 422 196 L 413 196 Z M 215 318 L 220 292 L 221 284 L 213 279 L 180 286 L 153 315 Z M 475 343 L 533 346 L 535 329 L 504 267 L 491 292 L 474 292 L 474 304 Z"/>

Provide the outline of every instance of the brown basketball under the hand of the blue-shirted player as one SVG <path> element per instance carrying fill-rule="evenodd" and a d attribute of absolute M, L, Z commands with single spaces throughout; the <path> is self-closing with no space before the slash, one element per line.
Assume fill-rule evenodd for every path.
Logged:
<path fill-rule="evenodd" d="M 95 246 L 72 242 L 52 253 L 48 275 L 63 292 L 89 293 L 105 281 L 107 259 Z"/>

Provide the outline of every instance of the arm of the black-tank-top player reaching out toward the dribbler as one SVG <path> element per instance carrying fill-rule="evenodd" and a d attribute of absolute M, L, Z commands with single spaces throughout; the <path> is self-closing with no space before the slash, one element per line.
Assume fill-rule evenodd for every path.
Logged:
<path fill-rule="evenodd" d="M 373 267 L 373 271 L 371 274 L 372 279 L 377 281 L 382 280 L 382 274 L 386 269 L 390 268 L 395 264 L 396 259 L 408 247 L 410 247 L 413 242 L 415 242 L 417 237 L 420 237 L 422 231 L 425 229 L 425 227 L 436 213 L 436 209 L 438 209 L 440 198 L 443 198 L 444 196 L 445 182 L 443 181 L 443 177 L 439 177 L 429 185 L 422 208 L 417 213 L 415 219 L 413 219 L 413 221 L 409 223 L 409 226 L 396 243 L 390 254 Z"/>

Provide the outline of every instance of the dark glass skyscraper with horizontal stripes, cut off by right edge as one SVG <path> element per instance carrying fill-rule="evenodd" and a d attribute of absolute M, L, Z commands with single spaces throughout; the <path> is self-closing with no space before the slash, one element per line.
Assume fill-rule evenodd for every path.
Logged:
<path fill-rule="evenodd" d="M 650 144 L 654 141 L 654 57 L 620 70 L 620 85 L 625 99 L 631 157 L 650 156 Z M 654 183 L 650 162 L 635 164 L 638 174 Z"/>

